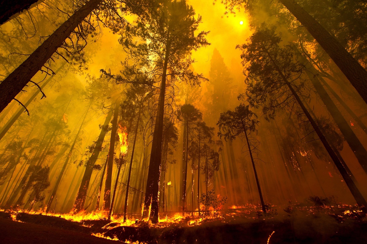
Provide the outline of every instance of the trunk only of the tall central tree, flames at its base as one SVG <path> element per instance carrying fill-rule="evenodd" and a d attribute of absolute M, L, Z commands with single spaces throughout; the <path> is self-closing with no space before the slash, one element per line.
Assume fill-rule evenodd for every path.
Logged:
<path fill-rule="evenodd" d="M 167 38 L 168 39 L 168 38 Z M 167 40 L 167 43 L 169 41 Z M 169 58 L 169 45 L 167 45 L 164 64 L 162 82 L 160 87 L 160 95 L 158 101 L 157 118 L 154 126 L 152 151 L 149 160 L 148 177 L 146 181 L 144 210 L 142 218 L 148 217 L 153 223 L 158 222 L 159 217 L 159 178 L 160 178 L 160 166 L 161 166 L 161 152 L 162 152 L 162 139 L 163 139 L 163 118 L 164 118 L 164 98 L 166 95 L 166 75 L 167 65 Z"/>

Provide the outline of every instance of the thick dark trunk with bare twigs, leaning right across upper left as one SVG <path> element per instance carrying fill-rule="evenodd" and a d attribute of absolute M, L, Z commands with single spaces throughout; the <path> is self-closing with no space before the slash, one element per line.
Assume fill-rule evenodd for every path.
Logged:
<path fill-rule="evenodd" d="M 32 77 L 44 66 L 63 42 L 102 0 L 90 0 L 70 16 L 51 34 L 28 58 L 0 83 L 0 112 L 28 84 Z"/>

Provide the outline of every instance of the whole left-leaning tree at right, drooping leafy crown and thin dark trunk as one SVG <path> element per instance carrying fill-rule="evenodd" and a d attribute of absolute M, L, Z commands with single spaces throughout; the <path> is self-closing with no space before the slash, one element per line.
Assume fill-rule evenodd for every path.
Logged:
<path fill-rule="evenodd" d="M 291 45 L 279 47 L 281 38 L 275 37 L 273 33 L 274 30 L 262 26 L 248 38 L 247 44 L 237 46 L 243 51 L 241 58 L 243 59 L 244 71 L 247 73 L 247 101 L 255 107 L 257 104 L 261 104 L 262 111 L 268 119 L 273 118 L 277 110 L 291 108 L 293 112 L 295 108 L 301 108 L 333 159 L 357 204 L 365 211 L 366 200 L 348 175 L 299 95 L 304 91 L 302 90 L 304 86 L 299 79 L 305 69 L 304 65 L 294 62 Z M 304 94 L 302 97 L 307 96 Z"/>

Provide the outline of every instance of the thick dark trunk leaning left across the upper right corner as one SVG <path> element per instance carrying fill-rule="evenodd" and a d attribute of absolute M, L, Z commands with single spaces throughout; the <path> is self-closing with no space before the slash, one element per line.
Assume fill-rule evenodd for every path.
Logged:
<path fill-rule="evenodd" d="M 367 71 L 319 22 L 295 0 L 279 0 L 315 38 L 367 103 Z"/>

